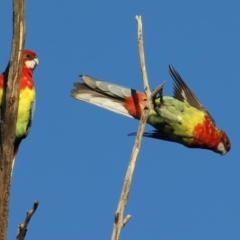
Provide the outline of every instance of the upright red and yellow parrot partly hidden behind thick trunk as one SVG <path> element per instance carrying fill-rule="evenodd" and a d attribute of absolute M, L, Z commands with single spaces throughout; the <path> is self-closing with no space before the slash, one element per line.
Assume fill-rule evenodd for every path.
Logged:
<path fill-rule="evenodd" d="M 17 154 L 21 141 L 27 137 L 30 127 L 32 125 L 32 118 L 35 108 L 36 92 L 33 81 L 33 70 L 38 65 L 37 55 L 30 51 L 23 51 L 23 66 L 22 75 L 20 79 L 20 95 L 16 125 L 16 137 L 14 143 L 14 155 Z M 8 77 L 8 67 L 5 72 L 0 75 L 0 106 L 1 112 L 5 111 L 5 91 Z M 13 161 L 14 165 L 14 161 Z M 13 171 L 13 166 L 12 166 Z"/>

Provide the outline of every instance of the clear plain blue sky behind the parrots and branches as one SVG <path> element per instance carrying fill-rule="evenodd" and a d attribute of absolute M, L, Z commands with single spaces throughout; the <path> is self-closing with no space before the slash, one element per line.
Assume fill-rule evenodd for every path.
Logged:
<path fill-rule="evenodd" d="M 124 240 L 240 239 L 239 1 L 27 1 L 25 47 L 40 65 L 37 106 L 17 156 L 9 239 L 35 200 L 27 239 L 110 239 L 138 122 L 70 98 L 78 74 L 142 90 L 135 15 L 142 15 L 150 86 L 168 64 L 231 139 L 224 157 L 144 139 L 125 211 Z M 12 34 L 2 3 L 4 70 Z M 151 129 L 151 127 L 147 127 Z"/>

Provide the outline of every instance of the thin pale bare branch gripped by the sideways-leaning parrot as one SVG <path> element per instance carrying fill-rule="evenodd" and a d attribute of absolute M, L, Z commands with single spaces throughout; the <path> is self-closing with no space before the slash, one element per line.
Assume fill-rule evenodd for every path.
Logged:
<path fill-rule="evenodd" d="M 151 91 L 150 91 L 149 84 L 148 84 L 147 71 L 146 71 L 146 65 L 145 65 L 145 57 L 144 57 L 141 16 L 136 16 L 136 20 L 138 23 L 138 48 L 139 48 L 140 66 L 141 66 L 144 91 L 147 96 L 147 101 L 146 101 L 146 107 L 143 111 L 143 114 L 142 114 L 142 117 L 141 117 L 141 120 L 139 123 L 137 136 L 135 139 L 135 143 L 133 146 L 131 158 L 129 161 L 127 173 L 126 173 L 123 188 L 122 188 L 122 193 L 121 193 L 121 196 L 120 196 L 120 199 L 118 202 L 118 207 L 117 207 L 117 210 L 115 213 L 115 220 L 114 220 L 114 226 L 113 226 L 113 232 L 112 232 L 112 240 L 119 240 L 122 227 L 125 226 L 125 224 L 129 221 L 129 219 L 131 217 L 130 215 L 128 215 L 128 217 L 126 217 L 123 220 L 123 212 L 126 207 L 129 192 L 130 192 L 133 173 L 134 173 L 135 165 L 137 162 L 138 153 L 139 153 L 140 147 L 141 147 L 143 131 L 144 131 L 145 124 L 146 124 L 146 121 L 148 118 L 149 110 L 152 106 Z"/>

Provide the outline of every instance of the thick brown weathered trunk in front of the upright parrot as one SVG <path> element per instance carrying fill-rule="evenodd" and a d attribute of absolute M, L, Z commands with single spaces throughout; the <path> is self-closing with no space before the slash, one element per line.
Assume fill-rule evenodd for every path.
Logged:
<path fill-rule="evenodd" d="M 9 62 L 6 108 L 1 109 L 0 127 L 0 240 L 7 239 L 13 146 L 19 102 L 19 80 L 25 42 L 25 0 L 13 0 L 13 38 Z M 4 100 L 3 100 L 4 101 Z"/>

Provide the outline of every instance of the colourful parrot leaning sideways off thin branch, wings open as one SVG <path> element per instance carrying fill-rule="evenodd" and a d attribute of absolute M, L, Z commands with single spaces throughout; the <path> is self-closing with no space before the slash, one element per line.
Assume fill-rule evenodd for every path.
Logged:
<path fill-rule="evenodd" d="M 169 66 L 169 73 L 174 83 L 173 97 L 158 96 L 154 100 L 147 123 L 155 130 L 144 133 L 144 136 L 226 154 L 231 148 L 226 133 L 216 127 L 209 112 L 172 65 Z M 130 118 L 141 118 L 146 102 L 144 93 L 87 75 L 80 77 L 83 82 L 74 84 L 75 89 L 71 92 L 73 98 Z"/>

